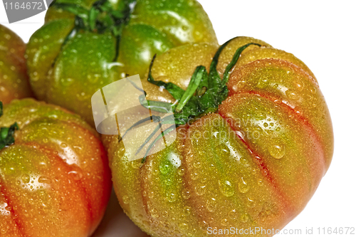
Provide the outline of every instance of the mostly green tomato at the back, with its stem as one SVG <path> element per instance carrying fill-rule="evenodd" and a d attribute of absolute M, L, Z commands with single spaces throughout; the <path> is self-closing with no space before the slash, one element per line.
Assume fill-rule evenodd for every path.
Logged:
<path fill-rule="evenodd" d="M 94 125 L 96 91 L 127 75 L 143 78 L 155 53 L 194 42 L 217 42 L 195 0 L 58 0 L 28 43 L 31 86 L 39 100 Z"/>

